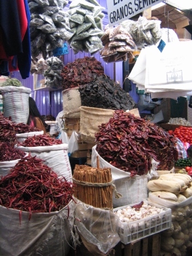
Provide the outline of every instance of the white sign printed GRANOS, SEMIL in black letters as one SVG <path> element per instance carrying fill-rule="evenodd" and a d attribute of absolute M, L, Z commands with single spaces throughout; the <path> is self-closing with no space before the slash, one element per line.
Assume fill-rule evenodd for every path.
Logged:
<path fill-rule="evenodd" d="M 112 27 L 122 21 L 142 13 L 163 0 L 107 0 L 109 26 Z"/>

